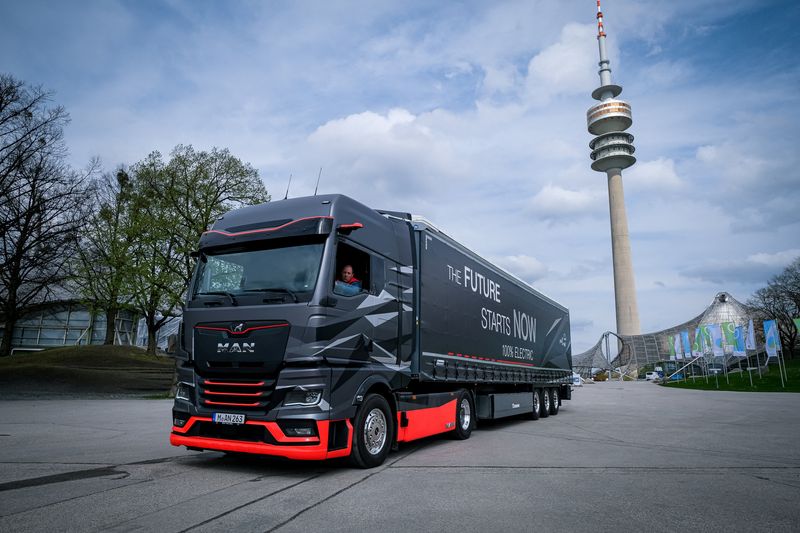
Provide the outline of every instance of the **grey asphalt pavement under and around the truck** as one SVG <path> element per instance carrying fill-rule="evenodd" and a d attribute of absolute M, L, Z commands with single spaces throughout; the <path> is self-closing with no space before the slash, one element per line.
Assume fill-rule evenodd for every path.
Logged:
<path fill-rule="evenodd" d="M 597 383 L 372 470 L 175 448 L 170 408 L 0 402 L 0 531 L 800 530 L 800 394 Z"/>

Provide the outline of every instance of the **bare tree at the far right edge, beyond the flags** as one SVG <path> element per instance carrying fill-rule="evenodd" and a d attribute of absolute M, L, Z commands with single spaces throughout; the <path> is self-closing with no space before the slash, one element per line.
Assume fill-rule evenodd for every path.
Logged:
<path fill-rule="evenodd" d="M 758 289 L 747 304 L 762 319 L 775 319 L 781 346 L 788 357 L 798 344 L 794 318 L 800 317 L 800 257 L 774 276 L 766 287 Z"/>

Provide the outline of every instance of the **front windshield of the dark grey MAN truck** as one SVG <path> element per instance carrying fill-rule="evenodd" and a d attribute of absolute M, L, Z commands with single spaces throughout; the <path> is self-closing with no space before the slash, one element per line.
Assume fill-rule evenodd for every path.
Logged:
<path fill-rule="evenodd" d="M 317 284 L 324 246 L 203 254 L 192 299 L 223 297 L 232 305 L 308 301 Z"/>

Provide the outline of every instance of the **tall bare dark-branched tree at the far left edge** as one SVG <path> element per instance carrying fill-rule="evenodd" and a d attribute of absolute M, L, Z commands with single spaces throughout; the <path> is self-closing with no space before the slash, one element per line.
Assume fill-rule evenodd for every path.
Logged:
<path fill-rule="evenodd" d="M 79 175 L 66 165 L 69 116 L 49 101 L 41 88 L 0 76 L 0 355 L 11 353 L 26 308 L 63 286 L 86 220 L 94 167 Z"/>

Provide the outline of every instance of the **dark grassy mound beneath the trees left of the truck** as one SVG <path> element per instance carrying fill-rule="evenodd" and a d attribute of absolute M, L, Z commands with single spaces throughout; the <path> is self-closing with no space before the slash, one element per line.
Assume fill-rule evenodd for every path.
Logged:
<path fill-rule="evenodd" d="M 0 358 L 0 397 L 166 394 L 175 362 L 129 346 L 70 346 Z"/>

